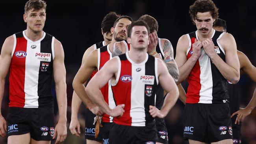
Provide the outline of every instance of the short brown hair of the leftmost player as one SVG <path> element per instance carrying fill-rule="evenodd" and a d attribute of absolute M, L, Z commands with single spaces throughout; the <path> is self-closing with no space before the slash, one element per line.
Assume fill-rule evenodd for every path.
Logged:
<path fill-rule="evenodd" d="M 24 13 L 26 14 L 30 9 L 39 10 L 46 9 L 46 2 L 43 0 L 29 0 L 24 7 Z"/>

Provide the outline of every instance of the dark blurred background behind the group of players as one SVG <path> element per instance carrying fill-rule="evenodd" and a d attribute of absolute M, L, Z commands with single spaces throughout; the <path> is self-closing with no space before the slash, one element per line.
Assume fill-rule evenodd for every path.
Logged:
<path fill-rule="evenodd" d="M 26 29 L 23 21 L 24 5 L 27 0 L 1 1 L 0 3 L 0 47 L 6 37 Z M 158 20 L 158 37 L 169 39 L 174 48 L 183 34 L 196 30 L 188 11 L 194 0 L 46 0 L 47 17 L 44 31 L 54 35 L 61 41 L 65 51 L 65 66 L 67 70 L 68 124 L 71 116 L 72 80 L 78 71 L 83 53 L 95 44 L 103 41 L 101 21 L 109 11 L 128 15 L 137 20 L 141 15 L 148 14 Z M 227 31 L 236 39 L 237 49 L 245 53 L 252 64 L 256 65 L 256 1 L 251 0 L 213 0 L 219 8 L 220 18 L 226 20 Z M 175 55 L 175 54 L 174 54 Z M 3 63 L 3 62 L 0 62 Z M 6 79 L 2 115 L 6 118 L 8 112 L 9 81 Z M 186 90 L 187 83 L 182 83 Z M 245 107 L 253 94 L 256 83 L 246 75 L 239 81 L 241 107 Z M 54 90 L 53 90 L 54 93 Z M 56 103 L 55 103 L 56 104 Z M 70 134 L 64 144 L 85 144 L 84 140 L 84 106 L 80 108 L 82 133 L 80 138 Z M 186 144 L 183 140 L 182 111 L 184 104 L 178 100 L 166 117 L 169 144 Z M 55 105 L 56 118 L 58 107 Z M 58 120 L 58 119 L 57 119 Z M 256 144 L 256 111 L 247 116 L 242 124 L 242 143 Z M 7 143 L 6 138 L 0 138 L 0 144 Z"/>

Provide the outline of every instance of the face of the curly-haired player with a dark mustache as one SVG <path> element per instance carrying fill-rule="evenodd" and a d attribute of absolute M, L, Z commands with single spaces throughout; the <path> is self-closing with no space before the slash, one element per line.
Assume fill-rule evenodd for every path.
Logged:
<path fill-rule="evenodd" d="M 197 30 L 201 35 L 208 35 L 211 32 L 215 18 L 211 17 L 210 12 L 197 13 L 197 18 L 194 20 Z"/>

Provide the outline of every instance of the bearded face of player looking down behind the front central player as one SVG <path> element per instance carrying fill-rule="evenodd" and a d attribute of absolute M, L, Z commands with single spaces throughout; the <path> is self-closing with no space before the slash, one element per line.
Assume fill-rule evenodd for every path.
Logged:
<path fill-rule="evenodd" d="M 121 18 L 114 28 L 114 39 L 116 41 L 123 41 L 127 38 L 127 28 L 132 22 L 127 18 Z"/>

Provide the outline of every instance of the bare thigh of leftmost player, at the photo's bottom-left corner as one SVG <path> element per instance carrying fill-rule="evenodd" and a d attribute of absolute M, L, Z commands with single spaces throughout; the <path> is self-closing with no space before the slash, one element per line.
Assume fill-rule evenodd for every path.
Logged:
<path fill-rule="evenodd" d="M 7 144 L 30 144 L 30 133 L 23 135 L 10 135 Z"/>

